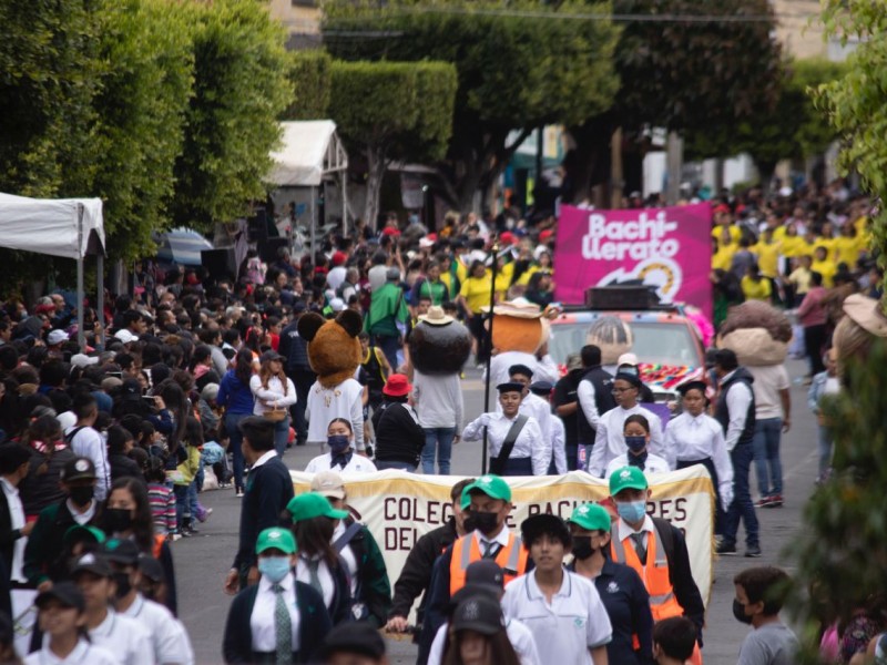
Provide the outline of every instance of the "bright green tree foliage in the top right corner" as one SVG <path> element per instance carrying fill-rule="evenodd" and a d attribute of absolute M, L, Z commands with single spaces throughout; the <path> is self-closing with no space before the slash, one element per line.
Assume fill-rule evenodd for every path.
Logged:
<path fill-rule="evenodd" d="M 859 38 L 844 76 L 819 85 L 816 105 L 843 140 L 839 165 L 856 171 L 873 196 L 887 197 L 887 12 L 879 0 L 824 0 L 824 20 L 833 37 Z M 873 219 L 875 246 L 887 254 L 887 214 Z"/>

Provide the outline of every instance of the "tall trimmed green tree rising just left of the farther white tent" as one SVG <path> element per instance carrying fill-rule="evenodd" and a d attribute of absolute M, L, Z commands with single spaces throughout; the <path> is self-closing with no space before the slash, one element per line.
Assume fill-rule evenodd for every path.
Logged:
<path fill-rule="evenodd" d="M 255 0 L 196 6 L 194 96 L 175 164 L 172 216 L 208 229 L 265 197 L 277 120 L 292 101 L 283 28 Z"/>

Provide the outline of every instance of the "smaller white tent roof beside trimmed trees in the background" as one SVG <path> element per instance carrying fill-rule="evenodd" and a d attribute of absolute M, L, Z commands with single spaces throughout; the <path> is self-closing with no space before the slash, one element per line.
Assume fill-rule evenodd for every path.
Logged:
<path fill-rule="evenodd" d="M 348 155 L 332 120 L 282 122 L 281 147 L 271 153 L 268 182 L 281 187 L 316 187 L 325 175 L 345 171 Z"/>

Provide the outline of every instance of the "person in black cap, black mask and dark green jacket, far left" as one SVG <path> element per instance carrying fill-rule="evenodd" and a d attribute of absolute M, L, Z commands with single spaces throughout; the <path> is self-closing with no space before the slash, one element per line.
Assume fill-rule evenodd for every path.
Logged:
<path fill-rule="evenodd" d="M 68 561 L 62 556 L 68 530 L 75 524 L 95 525 L 101 518 L 101 507 L 94 499 L 92 460 L 84 457 L 70 460 L 62 468 L 60 481 L 67 499 L 40 511 L 24 548 L 24 576 L 39 591 L 70 577 Z"/>

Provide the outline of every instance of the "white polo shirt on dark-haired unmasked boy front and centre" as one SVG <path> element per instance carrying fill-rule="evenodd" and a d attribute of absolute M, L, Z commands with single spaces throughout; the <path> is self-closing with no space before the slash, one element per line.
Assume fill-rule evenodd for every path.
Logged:
<path fill-rule="evenodd" d="M 569 571 L 550 605 L 536 583 L 536 571 L 521 575 L 506 586 L 502 611 L 526 624 L 537 645 L 544 645 L 546 663 L 592 665 L 589 649 L 604 646 L 613 636 L 594 584 Z"/>

